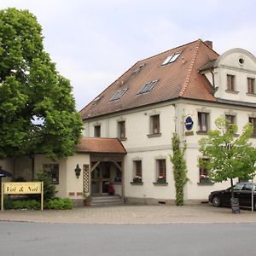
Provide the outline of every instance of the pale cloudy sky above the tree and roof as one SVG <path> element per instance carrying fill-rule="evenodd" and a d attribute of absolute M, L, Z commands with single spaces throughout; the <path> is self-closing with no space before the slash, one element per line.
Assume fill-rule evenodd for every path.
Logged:
<path fill-rule="evenodd" d="M 137 61 L 198 38 L 218 54 L 243 48 L 256 55 L 253 0 L 0 0 L 0 9 L 9 7 L 37 17 L 77 110 Z"/>

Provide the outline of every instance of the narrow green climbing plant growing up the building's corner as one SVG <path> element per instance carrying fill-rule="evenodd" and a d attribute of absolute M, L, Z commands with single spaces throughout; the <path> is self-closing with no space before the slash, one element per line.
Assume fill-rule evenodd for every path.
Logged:
<path fill-rule="evenodd" d="M 173 175 L 175 181 L 176 190 L 176 205 L 183 206 L 184 201 L 184 186 L 188 182 L 187 177 L 187 166 L 184 159 L 184 153 L 186 148 L 180 148 L 180 139 L 175 133 L 172 137 L 172 155 L 170 155 L 170 160 L 173 165 Z"/>

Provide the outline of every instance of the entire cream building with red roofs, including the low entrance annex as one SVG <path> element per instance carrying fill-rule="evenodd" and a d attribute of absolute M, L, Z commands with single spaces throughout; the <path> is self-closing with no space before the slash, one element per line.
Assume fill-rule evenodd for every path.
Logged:
<path fill-rule="evenodd" d="M 83 190 L 108 195 L 113 183 L 125 201 L 172 203 L 169 155 L 176 132 L 187 145 L 185 201 L 207 201 L 212 190 L 230 184 L 212 183 L 198 166 L 198 141 L 215 128 L 219 116 L 236 122 L 238 132 L 250 121 L 256 137 L 255 79 L 254 55 L 245 49 L 218 55 L 212 42 L 200 39 L 138 61 L 80 111 L 84 138 L 77 154 L 57 162 L 37 155 L 35 166 L 49 169 L 58 195 L 74 201 L 82 198 Z M 27 159 L 15 160 L 15 165 L 0 160 L 0 166 L 15 177 L 32 176 Z"/>

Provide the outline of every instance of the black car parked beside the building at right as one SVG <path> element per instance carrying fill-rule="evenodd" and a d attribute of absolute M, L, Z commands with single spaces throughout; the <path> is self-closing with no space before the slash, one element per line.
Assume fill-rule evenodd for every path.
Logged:
<path fill-rule="evenodd" d="M 256 209 L 256 183 L 253 183 L 253 208 Z M 236 183 L 233 186 L 234 197 L 239 199 L 240 207 L 252 207 L 252 183 Z M 214 207 L 230 207 L 231 187 L 229 189 L 212 191 L 209 202 Z"/>

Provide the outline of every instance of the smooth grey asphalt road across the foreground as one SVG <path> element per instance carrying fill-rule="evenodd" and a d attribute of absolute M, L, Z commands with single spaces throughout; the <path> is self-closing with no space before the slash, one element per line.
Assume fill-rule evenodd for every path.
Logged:
<path fill-rule="evenodd" d="M 0 222 L 0 255 L 255 255 L 256 224 Z"/>

